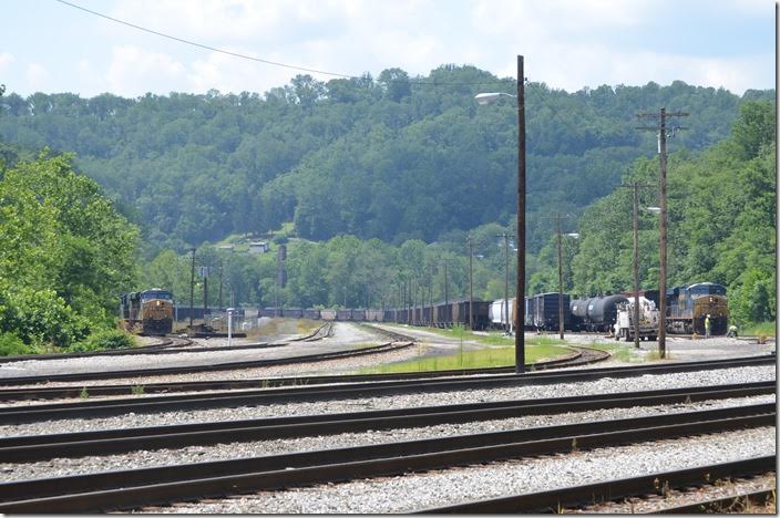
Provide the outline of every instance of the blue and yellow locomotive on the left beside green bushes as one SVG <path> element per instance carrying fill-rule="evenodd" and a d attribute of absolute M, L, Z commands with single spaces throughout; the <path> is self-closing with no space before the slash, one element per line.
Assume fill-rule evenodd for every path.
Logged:
<path fill-rule="evenodd" d="M 141 334 L 165 335 L 173 331 L 173 293 L 155 288 L 120 296 L 122 327 Z"/>

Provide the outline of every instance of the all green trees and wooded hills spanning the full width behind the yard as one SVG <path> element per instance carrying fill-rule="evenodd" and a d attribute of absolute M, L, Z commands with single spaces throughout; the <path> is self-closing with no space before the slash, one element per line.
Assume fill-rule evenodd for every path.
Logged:
<path fill-rule="evenodd" d="M 512 297 L 514 242 L 499 236 L 516 235 L 516 107 L 478 107 L 485 84 L 513 81 L 442 66 L 297 76 L 264 96 L 0 96 L 0 351 L 121 343 L 116 297 L 160 287 L 186 304 L 192 248 L 219 272 L 213 303 L 222 284 L 236 304 L 392 307 L 466 298 L 470 279 L 493 300 L 506 257 Z M 669 157 L 669 286 L 721 282 L 740 322 L 776 318 L 772 92 L 530 83 L 526 95 L 526 293 L 557 290 L 555 213 L 581 236 L 564 241 L 564 290 L 630 288 L 630 191 L 618 185 L 657 183 L 655 137 L 633 115 L 667 105 L 691 113 Z M 642 205 L 656 196 L 643 190 Z M 268 230 L 271 253 L 217 246 Z M 654 288 L 657 217 L 644 211 L 639 242 Z"/>

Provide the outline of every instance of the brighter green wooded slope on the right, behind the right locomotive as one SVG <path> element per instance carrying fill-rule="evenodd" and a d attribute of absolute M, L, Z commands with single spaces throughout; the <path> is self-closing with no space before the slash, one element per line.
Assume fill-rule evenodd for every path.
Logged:
<path fill-rule="evenodd" d="M 742 106 L 730 138 L 700 154 L 673 153 L 668 164 L 668 283 L 725 284 L 731 317 L 740 322 L 776 318 L 776 105 Z M 658 206 L 658 158 L 637 159 L 623 177 L 640 189 L 642 207 Z M 591 205 L 578 221 L 579 239 L 564 248 L 565 291 L 620 292 L 633 284 L 632 189 L 617 188 Z M 639 211 L 643 288 L 658 287 L 658 216 Z M 551 240 L 532 277 L 535 292 L 557 291 Z"/>

